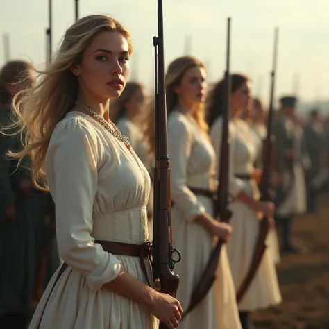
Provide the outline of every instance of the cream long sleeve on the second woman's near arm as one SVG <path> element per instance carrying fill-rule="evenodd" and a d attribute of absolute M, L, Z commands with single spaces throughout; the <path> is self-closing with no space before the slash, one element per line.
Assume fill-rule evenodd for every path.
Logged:
<path fill-rule="evenodd" d="M 183 120 L 173 118 L 168 123 L 168 148 L 171 174 L 171 199 L 193 221 L 205 208 L 187 187 L 187 162 L 191 153 L 192 136 Z"/>

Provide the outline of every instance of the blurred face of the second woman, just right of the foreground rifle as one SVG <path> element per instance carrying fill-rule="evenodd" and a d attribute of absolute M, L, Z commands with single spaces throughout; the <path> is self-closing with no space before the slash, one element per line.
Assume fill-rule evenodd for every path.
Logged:
<path fill-rule="evenodd" d="M 187 106 L 187 108 L 192 108 L 194 104 L 205 101 L 205 89 L 207 87 L 205 77 L 203 67 L 190 67 L 187 69 L 180 80 L 180 84 L 174 90 L 178 94 L 180 103 Z"/>

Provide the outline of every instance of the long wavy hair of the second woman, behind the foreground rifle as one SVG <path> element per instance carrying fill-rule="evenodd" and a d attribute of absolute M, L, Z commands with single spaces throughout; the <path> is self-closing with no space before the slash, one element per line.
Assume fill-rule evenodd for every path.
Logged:
<path fill-rule="evenodd" d="M 193 56 L 183 56 L 176 58 L 170 63 L 166 73 L 166 101 L 167 101 L 167 116 L 178 106 L 178 95 L 176 94 L 175 87 L 180 84 L 185 72 L 191 67 L 202 67 L 205 65 L 201 60 Z M 208 138 L 208 124 L 205 122 L 205 110 L 202 103 L 200 103 L 191 113 L 196 123 L 201 128 L 205 137 Z M 146 131 L 149 140 L 151 151 L 154 151 L 154 105 L 149 115 L 149 124 Z"/>

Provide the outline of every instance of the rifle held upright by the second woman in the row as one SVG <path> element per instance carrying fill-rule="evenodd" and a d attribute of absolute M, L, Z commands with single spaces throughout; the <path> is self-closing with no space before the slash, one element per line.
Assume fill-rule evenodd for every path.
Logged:
<path fill-rule="evenodd" d="M 215 202 L 214 212 L 219 214 L 221 221 L 228 223 L 230 220 L 231 212 L 228 210 L 228 158 L 229 158 L 229 144 L 228 138 L 228 117 L 230 109 L 230 18 L 228 18 L 228 35 L 227 35 L 227 58 L 226 58 L 226 111 L 223 113 L 223 133 L 221 135 L 221 150 L 220 150 L 220 165 L 219 165 L 219 187 L 217 189 L 217 202 Z M 223 240 L 219 239 L 216 246 L 210 254 L 203 273 L 192 292 L 189 307 L 184 312 L 185 317 L 191 312 L 196 305 L 198 305 L 203 298 L 208 294 L 210 288 L 216 280 L 216 269 L 219 264 L 219 256 L 221 255 L 221 246 Z"/>

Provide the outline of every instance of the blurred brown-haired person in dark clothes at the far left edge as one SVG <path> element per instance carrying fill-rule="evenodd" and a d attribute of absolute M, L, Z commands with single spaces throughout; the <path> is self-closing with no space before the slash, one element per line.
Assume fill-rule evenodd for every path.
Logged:
<path fill-rule="evenodd" d="M 0 130 L 11 123 L 14 97 L 34 80 L 28 62 L 12 60 L 1 68 Z M 50 194 L 33 188 L 26 159 L 15 170 L 17 160 L 6 156 L 9 149 L 22 149 L 19 138 L 0 133 L 0 328 L 26 329 L 36 288 L 41 295 L 59 258 L 46 223 Z M 49 251 L 53 259 L 47 262 Z"/>

